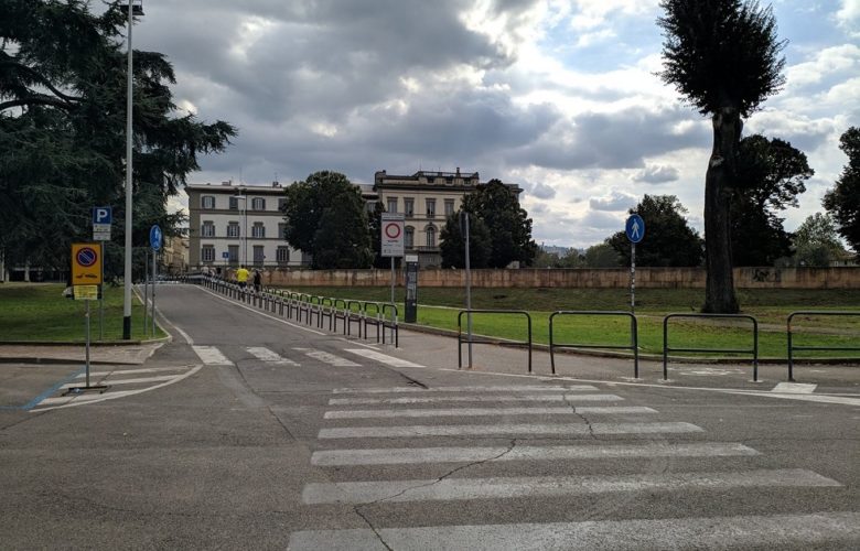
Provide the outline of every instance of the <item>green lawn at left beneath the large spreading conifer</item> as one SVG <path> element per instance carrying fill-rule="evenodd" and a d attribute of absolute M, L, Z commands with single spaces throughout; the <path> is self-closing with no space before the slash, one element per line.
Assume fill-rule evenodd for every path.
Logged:
<path fill-rule="evenodd" d="M 86 303 L 63 296 L 63 284 L 3 283 L 0 285 L 0 342 L 80 343 L 86 338 Z M 105 342 L 122 342 L 122 288 L 105 285 Z M 90 338 L 99 339 L 99 305 L 93 301 Z M 143 305 L 132 295 L 133 341 L 143 332 Z M 157 326 L 157 336 L 164 333 Z"/>

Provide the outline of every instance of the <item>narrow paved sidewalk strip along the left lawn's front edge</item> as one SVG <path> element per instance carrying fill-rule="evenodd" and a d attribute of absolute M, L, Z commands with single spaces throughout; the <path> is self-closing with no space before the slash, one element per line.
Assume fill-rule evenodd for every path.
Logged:
<path fill-rule="evenodd" d="M 141 365 L 164 343 L 133 345 L 94 345 L 89 363 L 97 365 Z M 75 364 L 86 361 L 84 345 L 2 345 L 0 364 Z"/>

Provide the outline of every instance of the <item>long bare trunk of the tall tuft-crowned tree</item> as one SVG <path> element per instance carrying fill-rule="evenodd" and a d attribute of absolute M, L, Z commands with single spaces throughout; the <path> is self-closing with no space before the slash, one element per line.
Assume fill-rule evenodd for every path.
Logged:
<path fill-rule="evenodd" d="M 705 177 L 705 266 L 708 276 L 702 312 L 734 314 L 739 309 L 732 277 L 729 208 L 742 122 L 738 109 L 733 107 L 720 109 L 711 122 L 713 150 Z"/>

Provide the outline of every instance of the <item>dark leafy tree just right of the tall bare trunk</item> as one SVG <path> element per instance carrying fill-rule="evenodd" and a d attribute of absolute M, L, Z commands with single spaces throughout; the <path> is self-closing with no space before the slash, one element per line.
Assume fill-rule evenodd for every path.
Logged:
<path fill-rule="evenodd" d="M 806 155 L 786 141 L 761 134 L 741 140 L 731 202 L 733 266 L 773 266 L 791 256 L 792 236 L 776 213 L 797 206 L 813 174 Z"/>

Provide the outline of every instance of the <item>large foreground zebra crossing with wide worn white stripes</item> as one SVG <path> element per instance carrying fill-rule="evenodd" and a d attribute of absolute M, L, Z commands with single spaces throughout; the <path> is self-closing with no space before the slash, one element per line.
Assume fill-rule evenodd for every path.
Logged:
<path fill-rule="evenodd" d="M 842 488 L 814 471 L 774 467 L 750 445 L 709 441 L 696 424 L 663 420 L 654 408 L 623 401 L 588 385 L 335 389 L 310 457 L 323 473 L 305 484 L 302 504 L 354 507 L 373 528 L 301 530 L 291 534 L 289 549 L 776 549 L 860 539 L 860 514 L 853 511 L 488 525 L 452 525 L 443 515 L 434 521 L 434 511 L 445 508 L 433 503 Z M 677 442 L 673 435 L 690 437 Z M 452 445 L 452 437 L 461 440 Z M 714 457 L 727 461 L 700 467 Z M 623 468 L 581 474 L 587 460 Z M 673 468 L 655 472 L 643 466 L 648 461 Z M 427 476 L 439 469 L 447 474 Z M 405 504 L 428 505 L 420 509 L 427 511 L 420 526 L 398 527 Z"/>

